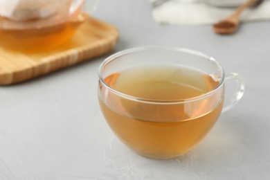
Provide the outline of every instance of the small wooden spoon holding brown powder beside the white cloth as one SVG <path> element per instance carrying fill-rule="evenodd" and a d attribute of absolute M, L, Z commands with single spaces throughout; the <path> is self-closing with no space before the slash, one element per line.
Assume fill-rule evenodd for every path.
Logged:
<path fill-rule="evenodd" d="M 249 0 L 246 1 L 246 3 L 242 4 L 235 12 L 233 12 L 233 15 L 227 17 L 226 19 L 218 22 L 217 24 L 213 25 L 213 30 L 215 33 L 218 34 L 231 34 L 234 33 L 235 30 L 237 30 L 239 25 L 239 19 L 240 15 L 243 10 L 248 8 L 249 6 L 253 5 L 253 3 L 256 3 L 259 0 Z"/>

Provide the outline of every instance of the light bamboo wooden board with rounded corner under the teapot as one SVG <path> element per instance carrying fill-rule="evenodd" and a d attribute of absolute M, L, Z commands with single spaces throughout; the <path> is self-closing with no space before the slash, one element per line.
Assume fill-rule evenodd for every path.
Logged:
<path fill-rule="evenodd" d="M 107 53 L 116 45 L 118 35 L 114 26 L 91 19 L 69 42 L 51 51 L 24 54 L 0 47 L 0 85 L 23 82 Z"/>

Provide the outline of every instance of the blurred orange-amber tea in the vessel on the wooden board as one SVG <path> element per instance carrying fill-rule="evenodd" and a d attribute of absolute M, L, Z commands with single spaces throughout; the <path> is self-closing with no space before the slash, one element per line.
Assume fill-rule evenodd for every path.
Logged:
<path fill-rule="evenodd" d="M 72 21 L 39 28 L 2 28 L 0 29 L 0 46 L 8 51 L 26 53 L 50 50 L 64 44 L 73 36 L 75 30 L 83 22 L 82 15 L 80 16 L 78 19 L 72 19 Z M 8 19 L 0 18 L 0 21 L 7 22 Z"/>

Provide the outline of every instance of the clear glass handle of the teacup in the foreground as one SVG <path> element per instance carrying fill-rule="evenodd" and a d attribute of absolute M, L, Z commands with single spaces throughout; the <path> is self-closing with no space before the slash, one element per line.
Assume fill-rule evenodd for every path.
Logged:
<path fill-rule="evenodd" d="M 241 75 L 237 73 L 229 73 L 228 75 L 225 75 L 225 81 L 226 80 L 235 80 L 237 82 L 237 87 L 231 96 L 231 98 L 226 99 L 224 101 L 224 107 L 222 109 L 222 112 L 228 111 L 228 109 L 231 109 L 233 106 L 236 105 L 237 102 L 242 98 L 244 94 L 244 79 Z"/>

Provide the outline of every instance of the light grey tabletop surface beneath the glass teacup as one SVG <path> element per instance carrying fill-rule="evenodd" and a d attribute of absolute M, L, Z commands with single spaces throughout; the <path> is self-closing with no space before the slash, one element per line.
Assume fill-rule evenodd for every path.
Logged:
<path fill-rule="evenodd" d="M 23 84 L 0 87 L 0 179 L 270 179 L 270 22 L 219 36 L 210 26 L 156 24 L 145 0 L 102 0 L 114 52 L 181 46 L 215 57 L 246 81 L 242 100 L 179 159 L 134 154 L 111 132 L 97 100 L 97 70 L 111 53 Z"/>

